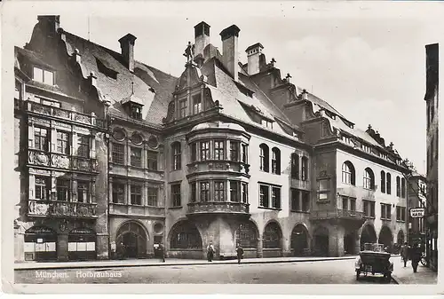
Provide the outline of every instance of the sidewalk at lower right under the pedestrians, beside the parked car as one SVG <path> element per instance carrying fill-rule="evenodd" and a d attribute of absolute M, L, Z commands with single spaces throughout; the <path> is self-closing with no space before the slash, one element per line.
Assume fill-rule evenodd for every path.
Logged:
<path fill-rule="evenodd" d="M 420 263 L 414 273 L 411 261 L 408 261 L 407 267 L 404 268 L 400 257 L 394 257 L 392 278 L 398 284 L 432 285 L 438 283 L 438 272 L 432 271 Z"/>

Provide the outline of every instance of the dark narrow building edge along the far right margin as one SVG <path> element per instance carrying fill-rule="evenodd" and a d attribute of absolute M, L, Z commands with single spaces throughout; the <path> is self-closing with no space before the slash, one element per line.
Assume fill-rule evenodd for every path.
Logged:
<path fill-rule="evenodd" d="M 427 255 L 432 269 L 438 269 L 438 102 L 439 102 L 439 45 L 425 46 L 427 106 Z"/>

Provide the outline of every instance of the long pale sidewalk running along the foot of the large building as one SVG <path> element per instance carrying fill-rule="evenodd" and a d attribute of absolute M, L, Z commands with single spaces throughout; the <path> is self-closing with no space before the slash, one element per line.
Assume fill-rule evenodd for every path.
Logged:
<path fill-rule="evenodd" d="M 272 264 L 272 263 L 302 263 L 302 262 L 320 262 L 335 260 L 350 260 L 356 256 L 340 257 L 268 257 L 268 258 L 246 258 L 242 259 L 242 264 Z M 53 262 L 36 263 L 26 262 L 14 264 L 15 270 L 43 270 L 43 269 L 85 269 L 85 268 L 118 268 L 118 267 L 142 267 L 142 266 L 173 266 L 173 265 L 199 265 L 199 264 L 237 264 L 237 260 L 213 261 L 190 260 L 167 258 L 165 263 L 159 259 L 129 259 L 129 260 L 102 260 L 87 262 Z"/>

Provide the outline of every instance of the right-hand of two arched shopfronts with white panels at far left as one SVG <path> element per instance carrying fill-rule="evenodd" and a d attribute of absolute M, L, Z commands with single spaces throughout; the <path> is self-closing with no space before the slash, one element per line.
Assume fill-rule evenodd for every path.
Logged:
<path fill-rule="evenodd" d="M 67 235 L 69 260 L 96 259 L 96 232 L 87 227 L 75 228 Z"/>

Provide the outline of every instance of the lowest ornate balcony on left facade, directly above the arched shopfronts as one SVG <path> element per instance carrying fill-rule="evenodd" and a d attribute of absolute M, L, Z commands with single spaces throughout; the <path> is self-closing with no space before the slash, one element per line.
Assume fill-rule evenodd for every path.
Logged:
<path fill-rule="evenodd" d="M 28 201 L 28 216 L 97 218 L 97 203 Z"/>

